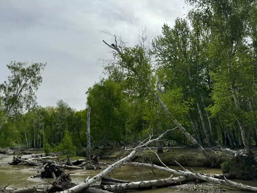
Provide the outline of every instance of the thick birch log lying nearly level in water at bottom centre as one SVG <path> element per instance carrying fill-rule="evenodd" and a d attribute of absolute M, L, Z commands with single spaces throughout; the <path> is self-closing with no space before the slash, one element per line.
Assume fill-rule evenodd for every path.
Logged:
<path fill-rule="evenodd" d="M 103 186 L 104 190 L 115 191 L 115 192 L 123 192 L 124 190 L 130 189 L 138 189 L 138 188 L 146 188 L 146 187 L 156 187 L 156 186 L 167 186 L 171 184 L 177 184 L 180 182 L 185 182 L 192 179 L 191 177 L 179 176 L 177 178 L 167 178 L 162 180 L 148 180 L 141 182 L 130 182 L 116 185 L 107 185 Z"/>

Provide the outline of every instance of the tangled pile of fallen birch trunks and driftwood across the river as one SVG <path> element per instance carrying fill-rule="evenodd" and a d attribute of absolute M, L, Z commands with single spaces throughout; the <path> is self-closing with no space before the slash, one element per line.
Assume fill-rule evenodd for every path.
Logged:
<path fill-rule="evenodd" d="M 195 181 L 198 182 L 212 182 L 214 184 L 220 184 L 225 185 L 228 187 L 240 189 L 240 190 L 248 190 L 252 192 L 257 192 L 257 187 L 247 186 L 245 184 L 236 183 L 228 180 L 228 178 L 233 178 L 233 176 L 230 175 L 207 175 L 203 174 L 202 172 L 196 173 L 194 170 L 189 171 L 185 168 L 182 168 L 182 170 L 173 170 L 168 168 L 158 157 L 158 154 L 156 156 L 158 157 L 160 163 L 164 166 L 157 166 L 152 163 L 139 163 L 139 162 L 131 162 L 131 160 L 136 156 L 136 153 L 142 148 L 148 148 L 148 144 L 152 144 L 153 142 L 157 142 L 162 138 L 167 132 L 171 130 L 166 130 L 163 134 L 158 136 L 155 139 L 151 139 L 152 136 L 149 136 L 146 140 L 140 142 L 138 146 L 136 146 L 128 156 L 125 158 L 118 160 L 114 164 L 109 165 L 105 170 L 97 174 L 96 176 L 93 176 L 92 178 L 88 177 L 85 179 L 84 182 L 81 184 L 75 184 L 71 182 L 69 174 L 65 174 L 62 169 L 97 169 L 99 168 L 99 162 L 98 157 L 94 156 L 92 158 L 92 161 L 87 160 L 75 160 L 71 161 L 69 159 L 69 156 L 67 158 L 60 160 L 59 162 L 55 162 L 53 160 L 53 157 L 38 157 L 38 158 L 31 158 L 31 159 L 22 159 L 21 157 L 16 157 L 13 159 L 12 163 L 26 163 L 29 165 L 36 165 L 38 163 L 44 164 L 44 170 L 46 175 L 51 178 L 55 178 L 54 182 L 51 182 L 51 187 L 44 189 L 42 191 L 39 189 L 36 189 L 37 192 L 59 192 L 59 193 L 71 193 L 71 192 L 90 192 L 90 191 L 100 191 L 100 192 L 125 192 L 130 191 L 133 189 L 142 189 L 142 188 L 152 188 L 152 187 L 163 187 L 163 186 L 174 186 L 180 183 L 185 183 L 189 181 Z M 150 150 L 150 148 L 148 148 Z M 152 151 L 152 150 L 151 150 Z M 232 152 L 233 154 L 243 154 L 244 152 Z M 98 163 L 98 165 L 97 165 Z M 180 165 L 179 163 L 177 163 Z M 106 178 L 105 176 L 108 175 L 110 172 L 115 170 L 115 168 L 119 168 L 123 165 L 131 165 L 135 167 L 149 167 L 152 169 L 162 170 L 166 171 L 170 174 L 170 178 L 166 179 L 157 179 L 157 180 L 147 180 L 147 181 L 141 181 L 141 182 L 129 182 L 129 181 L 123 181 L 123 180 L 117 180 L 112 178 Z M 58 170 L 57 170 L 58 169 Z M 42 174 L 42 172 L 41 172 Z M 154 176 L 156 175 L 153 172 Z M 173 174 L 178 175 L 178 177 L 173 177 Z M 99 186 L 102 190 L 92 190 L 92 186 L 94 186 L 95 182 L 102 180 L 101 186 Z M 35 192 L 35 188 L 31 188 L 28 190 L 19 190 L 16 193 L 31 193 Z M 1 191 L 0 191 L 1 192 Z"/>

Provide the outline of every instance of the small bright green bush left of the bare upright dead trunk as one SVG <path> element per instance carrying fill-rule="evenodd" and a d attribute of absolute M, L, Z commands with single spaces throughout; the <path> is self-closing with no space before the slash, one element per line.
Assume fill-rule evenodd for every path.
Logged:
<path fill-rule="evenodd" d="M 61 143 L 55 147 L 56 152 L 60 152 L 63 155 L 76 156 L 76 146 L 72 142 L 71 133 L 65 129 L 64 138 Z"/>

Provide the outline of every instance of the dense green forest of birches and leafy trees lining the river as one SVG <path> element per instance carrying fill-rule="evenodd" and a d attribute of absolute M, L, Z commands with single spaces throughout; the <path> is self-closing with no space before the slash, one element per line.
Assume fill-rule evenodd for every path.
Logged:
<path fill-rule="evenodd" d="M 92 146 L 136 143 L 175 126 L 165 136 L 170 145 L 195 144 L 183 129 L 201 146 L 250 152 L 249 145 L 257 145 L 256 1 L 187 3 L 193 9 L 186 18 L 164 24 L 152 42 L 146 30 L 134 47 L 113 35 L 104 78 L 85 90 Z M 77 149 L 87 145 L 88 108 L 76 111 L 63 100 L 36 104 L 41 71 L 51 66 L 7 67 L 11 75 L 0 85 L 1 148 L 58 145 L 65 135 Z"/>

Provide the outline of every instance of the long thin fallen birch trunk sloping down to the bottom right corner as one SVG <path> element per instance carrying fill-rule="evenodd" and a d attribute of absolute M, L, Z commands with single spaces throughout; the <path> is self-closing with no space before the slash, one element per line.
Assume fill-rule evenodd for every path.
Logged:
<path fill-rule="evenodd" d="M 154 168 L 157 170 L 163 170 L 166 172 L 170 172 L 172 174 L 177 174 L 177 175 L 182 175 L 182 176 L 186 176 L 189 178 L 196 178 L 199 180 L 204 180 L 207 182 L 213 182 L 215 184 L 220 184 L 220 185 L 225 185 L 225 186 L 229 186 L 232 188 L 236 188 L 236 189 L 240 189 L 240 190 L 247 190 L 247 191 L 252 191 L 252 192 L 257 192 L 257 187 L 252 187 L 252 186 L 247 186 L 245 184 L 241 184 L 241 183 L 236 183 L 236 182 L 232 182 L 230 180 L 227 180 L 226 178 L 224 178 L 224 180 L 221 179 L 217 179 L 217 178 L 212 178 L 210 176 L 204 176 L 198 173 L 192 173 L 189 171 L 180 171 L 180 170 L 172 170 L 170 168 L 164 168 L 164 167 L 160 167 L 154 164 L 143 164 L 143 163 L 138 163 L 138 162 L 130 162 L 130 163 L 126 163 L 128 165 L 132 165 L 132 166 L 146 166 L 146 167 L 150 167 L 150 168 Z"/>

